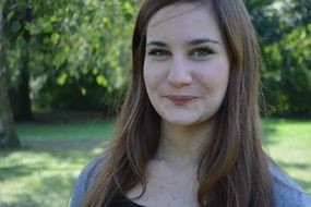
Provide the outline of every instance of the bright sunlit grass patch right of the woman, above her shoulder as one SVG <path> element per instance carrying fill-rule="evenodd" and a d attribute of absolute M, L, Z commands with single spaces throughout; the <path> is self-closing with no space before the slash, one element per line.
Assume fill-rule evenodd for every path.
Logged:
<path fill-rule="evenodd" d="M 311 194 L 311 121 L 270 120 L 264 132 L 271 157 Z"/>

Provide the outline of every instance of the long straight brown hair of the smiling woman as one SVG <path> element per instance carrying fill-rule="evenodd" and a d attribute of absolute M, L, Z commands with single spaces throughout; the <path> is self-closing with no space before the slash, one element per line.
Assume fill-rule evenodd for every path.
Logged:
<path fill-rule="evenodd" d="M 259 47 L 243 1 L 146 0 L 134 27 L 133 76 L 118 119 L 117 137 L 84 207 L 107 207 L 137 184 L 143 186 L 141 195 L 146 188 L 146 166 L 160 139 L 160 118 L 147 97 L 143 78 L 146 27 L 158 10 L 180 2 L 213 3 L 230 56 L 228 88 L 198 168 L 198 202 L 201 207 L 274 206 L 268 160 L 259 129 Z"/>

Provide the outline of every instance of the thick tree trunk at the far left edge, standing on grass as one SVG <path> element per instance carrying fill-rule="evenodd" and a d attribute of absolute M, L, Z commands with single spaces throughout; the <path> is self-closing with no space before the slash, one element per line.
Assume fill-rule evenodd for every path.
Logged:
<path fill-rule="evenodd" d="M 0 148 L 16 147 L 20 145 L 20 141 L 14 131 L 13 115 L 8 96 L 2 25 L 3 13 L 0 7 Z"/>

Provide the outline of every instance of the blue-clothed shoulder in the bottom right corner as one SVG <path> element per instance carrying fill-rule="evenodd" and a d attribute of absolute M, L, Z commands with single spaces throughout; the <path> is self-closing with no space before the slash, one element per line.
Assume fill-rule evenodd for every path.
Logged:
<path fill-rule="evenodd" d="M 275 165 L 270 166 L 276 207 L 311 207 L 311 197 Z"/>

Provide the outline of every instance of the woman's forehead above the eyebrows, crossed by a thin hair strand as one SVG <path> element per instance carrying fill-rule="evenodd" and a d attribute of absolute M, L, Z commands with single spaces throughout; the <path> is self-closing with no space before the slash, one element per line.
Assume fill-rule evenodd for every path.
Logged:
<path fill-rule="evenodd" d="M 147 25 L 147 39 L 174 40 L 196 36 L 222 40 L 211 3 L 177 3 L 165 7 L 155 13 Z"/>

